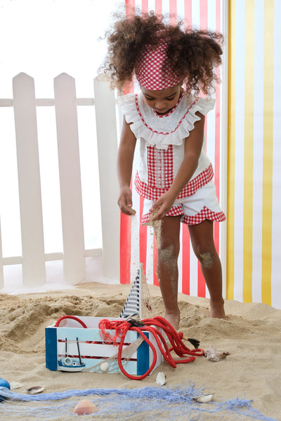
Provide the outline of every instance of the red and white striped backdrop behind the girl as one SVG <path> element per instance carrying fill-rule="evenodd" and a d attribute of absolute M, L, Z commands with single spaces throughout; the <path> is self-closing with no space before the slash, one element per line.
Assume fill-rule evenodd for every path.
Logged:
<path fill-rule="evenodd" d="M 185 25 L 200 29 L 223 31 L 221 27 L 223 0 L 126 0 L 126 5 L 138 8 L 142 12 L 155 11 L 169 14 L 171 23 L 177 19 L 185 19 Z M 178 18 L 177 18 L 178 16 Z M 219 70 L 218 70 L 219 72 Z M 216 106 L 209 112 L 205 133 L 207 137 L 207 154 L 215 171 L 215 184 L 220 198 L 221 171 L 221 87 L 216 87 Z M 133 178 L 136 173 L 136 162 L 133 166 Z M 225 198 L 222 198 L 225 201 Z M 222 206 L 223 207 L 223 206 Z M 139 263 L 143 268 L 148 283 L 158 285 L 156 274 L 157 247 L 150 227 L 140 225 L 143 199 L 133 189 L 133 208 L 136 216 L 129 218 L 121 215 L 120 233 L 120 280 L 130 283 L 136 276 Z M 223 210 L 226 210 L 223 207 Z M 224 224 L 224 222 L 223 222 Z M 223 225 L 222 224 L 222 225 Z M 181 254 L 178 259 L 179 292 L 208 297 L 200 265 L 190 246 L 188 227 L 181 224 Z M 220 251 L 221 226 L 215 222 L 214 238 L 218 252 Z M 220 253 L 221 254 L 221 253 Z M 221 256 L 222 258 L 223 256 Z M 223 265 L 224 266 L 224 265 Z"/>

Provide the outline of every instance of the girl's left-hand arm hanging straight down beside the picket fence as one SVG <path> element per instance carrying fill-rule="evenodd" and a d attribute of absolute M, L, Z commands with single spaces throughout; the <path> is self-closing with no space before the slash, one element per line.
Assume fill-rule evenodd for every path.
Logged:
<path fill-rule="evenodd" d="M 120 185 L 118 205 L 125 215 L 135 215 L 132 209 L 131 173 L 133 167 L 133 154 L 136 148 L 136 137 L 131 131 L 129 123 L 123 121 L 121 140 L 117 155 L 117 175 Z"/>

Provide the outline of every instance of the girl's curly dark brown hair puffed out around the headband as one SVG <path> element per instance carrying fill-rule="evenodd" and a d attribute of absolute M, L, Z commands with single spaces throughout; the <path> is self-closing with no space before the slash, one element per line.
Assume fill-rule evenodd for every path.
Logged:
<path fill-rule="evenodd" d="M 171 67 L 183 76 L 188 93 L 200 91 L 209 94 L 218 81 L 216 67 L 221 64 L 223 53 L 222 34 L 197 29 L 183 30 L 183 22 L 177 25 L 166 25 L 163 15 L 154 12 L 145 15 L 120 17 L 112 30 L 107 31 L 107 55 L 99 72 L 110 76 L 112 88 L 121 93 L 134 75 L 136 60 L 145 45 L 157 46 L 159 31 L 169 37 L 167 58 Z M 160 35 L 162 36 L 162 35 Z"/>

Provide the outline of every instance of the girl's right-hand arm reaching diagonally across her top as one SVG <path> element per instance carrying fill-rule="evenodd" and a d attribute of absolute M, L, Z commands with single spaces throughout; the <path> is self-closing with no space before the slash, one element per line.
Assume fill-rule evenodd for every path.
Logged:
<path fill-rule="evenodd" d="M 150 212 L 154 212 L 159 208 L 157 214 L 152 218 L 152 220 L 164 218 L 166 213 L 171 210 L 171 207 L 173 206 L 178 194 L 189 182 L 198 166 L 198 160 L 204 139 L 205 117 L 200 112 L 197 112 L 197 115 L 200 116 L 200 120 L 195 122 L 193 130 L 190 131 L 190 135 L 185 139 L 185 153 L 183 162 L 178 169 L 178 173 L 176 174 L 174 182 L 168 192 L 162 194 L 162 196 L 159 197 L 159 199 L 150 209 Z"/>

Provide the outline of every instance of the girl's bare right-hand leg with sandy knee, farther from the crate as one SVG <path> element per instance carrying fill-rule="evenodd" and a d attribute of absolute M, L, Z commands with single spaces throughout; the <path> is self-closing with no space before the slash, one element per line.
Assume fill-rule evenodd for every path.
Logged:
<path fill-rule="evenodd" d="M 188 226 L 190 240 L 210 294 L 210 316 L 223 319 L 226 317 L 223 308 L 223 281 L 221 260 L 214 245 L 213 222 L 204 220 L 197 225 Z"/>

